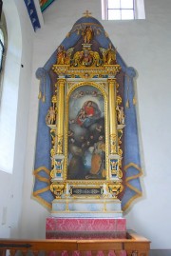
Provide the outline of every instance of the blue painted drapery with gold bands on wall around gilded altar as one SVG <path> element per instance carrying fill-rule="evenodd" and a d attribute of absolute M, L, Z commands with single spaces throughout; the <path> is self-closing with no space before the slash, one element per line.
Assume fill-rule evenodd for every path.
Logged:
<path fill-rule="evenodd" d="M 64 48 L 70 49 L 81 38 L 79 30 L 82 29 L 82 24 L 91 24 L 94 30 L 94 40 L 103 49 L 107 49 L 109 44 L 112 44 L 107 37 L 102 25 L 92 17 L 83 17 L 79 19 L 72 30 L 68 33 L 65 40 L 62 42 Z M 36 140 L 35 166 L 34 172 L 35 180 L 33 187 L 33 197 L 36 198 L 47 208 L 51 207 L 51 202 L 54 199 L 50 185 L 50 135 L 49 128 L 46 124 L 47 110 L 50 107 L 50 98 L 52 96 L 52 80 L 51 67 L 56 63 L 56 51 L 47 61 L 43 68 L 36 71 L 36 76 L 40 79 L 40 90 L 42 92 L 42 99 L 39 103 L 39 116 Z M 117 63 L 122 67 L 123 71 L 123 94 L 124 94 L 124 113 L 125 113 L 125 128 L 124 128 L 124 192 L 122 195 L 123 210 L 128 208 L 131 202 L 142 195 L 142 187 L 140 183 L 140 176 L 142 175 L 139 139 L 137 128 L 136 108 L 134 102 L 134 85 L 133 79 L 136 72 L 133 68 L 127 68 L 123 62 L 122 57 L 117 52 Z"/>

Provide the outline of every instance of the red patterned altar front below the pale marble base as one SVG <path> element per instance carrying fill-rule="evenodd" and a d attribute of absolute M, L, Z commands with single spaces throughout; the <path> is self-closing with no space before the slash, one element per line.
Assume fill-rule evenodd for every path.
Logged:
<path fill-rule="evenodd" d="M 125 238 L 124 218 L 47 218 L 47 239 Z"/>

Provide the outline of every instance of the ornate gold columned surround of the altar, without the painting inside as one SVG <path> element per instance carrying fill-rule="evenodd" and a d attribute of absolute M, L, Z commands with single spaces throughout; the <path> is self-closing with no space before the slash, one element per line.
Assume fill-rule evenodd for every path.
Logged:
<path fill-rule="evenodd" d="M 116 63 L 116 50 L 109 46 L 101 49 L 103 60 L 97 51 L 91 50 L 90 44 L 83 44 L 83 50 L 76 51 L 72 57 L 73 49 L 60 46 L 57 64 L 53 71 L 58 75 L 55 92 L 51 98 L 51 107 L 47 113 L 47 126 L 51 135 L 51 185 L 50 190 L 56 199 L 68 197 L 70 186 L 104 187 L 104 197 L 117 198 L 123 190 L 123 172 L 121 137 L 123 135 L 124 118 L 121 119 L 120 105 L 122 97 L 118 93 L 116 74 L 121 70 Z M 90 62 L 85 62 L 84 53 L 90 56 Z M 112 58 L 107 59 L 107 52 Z M 61 55 L 61 53 L 63 53 Z M 81 59 L 82 56 L 83 58 Z M 68 105 L 71 93 L 81 87 L 94 87 L 104 96 L 104 135 L 105 135 L 105 170 L 106 179 L 103 180 L 69 180 L 67 179 L 67 144 L 68 144 Z M 120 135 L 119 135 L 120 131 Z M 65 194 L 66 193 L 66 194 Z M 76 197 L 74 195 L 74 197 Z M 87 195 L 88 197 L 88 195 Z M 92 197 L 92 195 L 91 195 Z M 97 197 L 97 195 L 96 195 Z"/>

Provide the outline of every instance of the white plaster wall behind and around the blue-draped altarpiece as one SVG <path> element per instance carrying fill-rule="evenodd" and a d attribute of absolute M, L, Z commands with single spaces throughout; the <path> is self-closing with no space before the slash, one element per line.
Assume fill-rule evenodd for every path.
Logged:
<path fill-rule="evenodd" d="M 20 236 L 45 238 L 46 217 L 49 216 L 47 209 L 32 200 L 30 196 L 33 186 L 32 169 L 38 114 L 39 82 L 35 78 L 35 71 L 45 65 L 49 56 L 85 10 L 91 11 L 92 15 L 102 23 L 127 66 L 132 66 L 138 71 L 136 83 L 144 170 L 143 197 L 125 214 L 127 227 L 150 239 L 152 248 L 170 248 L 171 16 L 169 11 L 171 2 L 169 0 L 146 0 L 146 19 L 129 22 L 102 22 L 98 0 L 58 0 L 45 11 L 45 26 L 36 32 L 32 54 L 28 146 Z M 16 157 L 19 157 L 19 154 L 20 150 L 17 149 Z"/>

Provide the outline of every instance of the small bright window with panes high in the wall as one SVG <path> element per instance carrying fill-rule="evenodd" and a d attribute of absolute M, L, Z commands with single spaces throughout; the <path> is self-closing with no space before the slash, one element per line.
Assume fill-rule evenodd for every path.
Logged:
<path fill-rule="evenodd" d="M 103 20 L 144 19 L 143 0 L 102 0 Z"/>

